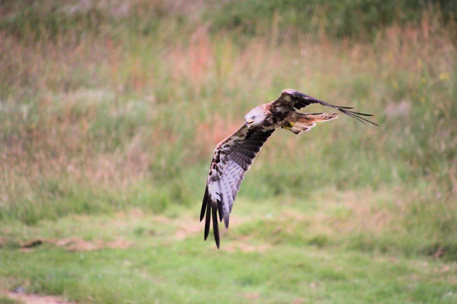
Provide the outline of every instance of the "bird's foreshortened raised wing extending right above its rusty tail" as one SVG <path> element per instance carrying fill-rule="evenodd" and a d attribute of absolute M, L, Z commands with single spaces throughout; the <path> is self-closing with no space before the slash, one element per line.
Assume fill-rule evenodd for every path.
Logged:
<path fill-rule="evenodd" d="M 275 101 L 273 101 L 271 104 L 274 107 L 277 107 L 280 105 L 287 105 L 290 108 L 301 109 L 301 108 L 304 108 L 313 103 L 322 104 L 324 107 L 335 108 L 338 111 L 343 112 L 346 115 L 349 115 L 349 116 L 361 121 L 364 124 L 365 124 L 365 121 L 370 124 L 375 124 L 372 121 L 370 121 L 368 119 L 364 119 L 363 117 L 359 116 L 359 115 L 363 115 L 363 116 L 373 116 L 373 115 L 353 112 L 353 111 L 349 110 L 349 109 L 352 109 L 349 107 L 334 106 L 332 104 L 326 103 L 322 100 L 316 99 L 314 97 L 308 96 L 306 94 L 300 93 L 300 92 L 292 90 L 292 89 L 283 90 L 281 92 L 281 95 L 279 95 L 279 97 Z M 377 125 L 377 124 L 375 124 L 375 125 Z"/>

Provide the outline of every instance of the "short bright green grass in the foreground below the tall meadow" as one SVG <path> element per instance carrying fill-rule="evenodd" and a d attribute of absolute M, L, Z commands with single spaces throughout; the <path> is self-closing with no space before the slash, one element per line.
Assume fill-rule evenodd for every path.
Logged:
<path fill-rule="evenodd" d="M 248 201 L 241 203 L 250 205 Z M 269 202 L 267 206 L 276 204 Z M 46 243 L 21 252 L 10 245 L 0 251 L 1 260 L 8 261 L 0 268 L 0 285 L 3 289 L 24 286 L 28 293 L 60 294 L 79 303 L 456 300 L 455 263 L 341 250 L 335 244 L 316 242 L 316 237 L 303 242 L 287 233 L 278 238 L 280 242 L 270 242 L 271 237 L 264 237 L 265 229 L 260 229 L 259 221 L 275 222 L 284 216 L 282 211 L 291 211 L 292 207 L 279 206 L 268 215 L 268 208 L 255 202 L 251 205 L 259 207 L 252 216 L 239 212 L 249 207 L 237 208 L 237 223 L 224 233 L 221 250 L 215 248 L 211 238 L 203 242 L 202 229 L 198 228 L 187 230 L 184 239 L 176 239 L 176 232 L 186 227 L 203 228 L 186 209 L 177 210 L 180 216 L 168 220 L 127 212 L 117 216 L 69 216 L 57 222 L 40 222 L 33 228 L 4 224 L 4 234 L 16 241 L 36 237 L 64 239 L 78 231 L 81 238 L 91 242 L 122 238 L 133 245 L 79 252 Z M 297 211 L 293 214 L 300 216 Z M 306 215 L 315 213 L 301 214 Z M 304 223 L 296 218 L 283 222 L 281 228 L 289 230 Z M 335 241 L 332 242 L 338 242 Z M 268 246 L 262 248 L 262 244 Z"/>

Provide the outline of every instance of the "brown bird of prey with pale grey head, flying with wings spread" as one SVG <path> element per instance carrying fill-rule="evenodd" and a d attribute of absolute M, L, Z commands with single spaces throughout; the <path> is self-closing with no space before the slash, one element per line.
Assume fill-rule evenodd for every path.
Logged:
<path fill-rule="evenodd" d="M 304 108 L 312 103 L 335 108 L 362 123 L 375 124 L 361 117 L 373 116 L 350 111 L 348 107 L 334 106 L 292 89 L 285 89 L 271 103 L 261 104 L 244 116 L 246 122 L 232 135 L 221 141 L 214 149 L 209 169 L 205 195 L 203 196 L 200 222 L 205 217 L 205 241 L 208 237 L 211 217 L 213 217 L 214 240 L 219 248 L 219 221 L 228 228 L 230 212 L 244 178 L 260 147 L 276 128 L 287 129 L 300 134 L 313 128 L 317 122 L 337 118 L 339 113 L 299 113 L 295 109 Z M 377 125 L 377 124 L 375 124 Z"/>

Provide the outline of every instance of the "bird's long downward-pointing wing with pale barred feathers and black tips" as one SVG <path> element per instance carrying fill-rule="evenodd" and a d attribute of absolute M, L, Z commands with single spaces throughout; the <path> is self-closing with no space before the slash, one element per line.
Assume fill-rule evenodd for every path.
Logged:
<path fill-rule="evenodd" d="M 243 124 L 214 149 L 200 213 L 200 222 L 202 222 L 206 211 L 205 241 L 208 237 L 211 217 L 213 217 L 214 239 L 219 248 L 217 214 L 219 213 L 219 221 L 223 220 L 225 228 L 228 228 L 228 219 L 243 181 L 244 172 L 249 170 L 260 147 L 273 132 L 274 129 L 263 131 L 258 128 L 248 128 Z"/>

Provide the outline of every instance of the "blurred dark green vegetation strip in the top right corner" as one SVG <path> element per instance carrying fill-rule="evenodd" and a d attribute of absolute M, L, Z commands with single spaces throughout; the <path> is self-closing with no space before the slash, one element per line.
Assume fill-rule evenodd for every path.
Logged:
<path fill-rule="evenodd" d="M 373 40 L 380 28 L 393 23 L 420 23 L 427 9 L 439 11 L 446 20 L 453 19 L 456 5 L 455 1 L 235 0 L 218 1 L 206 17 L 217 30 L 259 35 L 275 28 L 280 36 L 298 30 L 316 36 Z"/>

